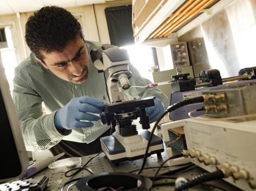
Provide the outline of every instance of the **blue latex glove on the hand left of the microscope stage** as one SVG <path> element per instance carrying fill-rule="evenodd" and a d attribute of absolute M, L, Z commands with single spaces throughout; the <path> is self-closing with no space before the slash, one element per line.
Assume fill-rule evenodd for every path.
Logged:
<path fill-rule="evenodd" d="M 54 124 L 59 129 L 92 127 L 94 125 L 92 122 L 99 121 L 100 117 L 88 112 L 102 113 L 100 108 L 102 106 L 104 106 L 104 102 L 88 96 L 73 98 L 55 113 Z M 91 122 L 80 122 L 80 120 Z"/>

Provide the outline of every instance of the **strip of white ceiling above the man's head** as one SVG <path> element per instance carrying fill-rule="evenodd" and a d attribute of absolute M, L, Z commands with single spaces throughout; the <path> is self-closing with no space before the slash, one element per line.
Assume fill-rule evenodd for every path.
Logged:
<path fill-rule="evenodd" d="M 35 11 L 49 5 L 74 7 L 113 1 L 121 0 L 0 0 L 0 15 Z"/>

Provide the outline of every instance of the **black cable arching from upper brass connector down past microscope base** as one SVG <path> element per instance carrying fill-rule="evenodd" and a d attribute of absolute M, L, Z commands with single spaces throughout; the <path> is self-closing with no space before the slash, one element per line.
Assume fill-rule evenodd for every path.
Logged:
<path fill-rule="evenodd" d="M 154 124 L 154 127 L 150 133 L 150 136 L 149 136 L 149 139 L 148 139 L 148 145 L 147 145 L 147 149 L 146 149 L 146 152 L 144 154 L 144 159 L 143 159 L 143 163 L 142 163 L 142 167 L 140 169 L 139 172 L 137 172 L 136 174 L 141 174 L 141 172 L 143 171 L 144 169 L 144 166 L 146 164 L 146 160 L 147 160 L 147 154 L 148 154 L 148 150 L 149 150 L 149 146 L 150 146 L 150 142 L 152 140 L 152 137 L 153 137 L 153 132 L 155 131 L 155 128 L 157 127 L 157 125 L 159 124 L 159 122 L 162 120 L 162 118 L 165 116 L 165 114 L 167 114 L 168 112 L 171 112 L 171 111 L 174 111 L 175 109 L 178 109 L 180 107 L 183 107 L 183 106 L 186 106 L 186 105 L 189 105 L 189 104 L 195 104 L 195 103 L 201 103 L 201 102 L 204 102 L 204 98 L 203 96 L 200 96 L 200 97 L 195 97 L 195 98 L 191 98 L 191 99 L 188 99 L 188 100 L 184 100 L 184 101 L 181 101 L 181 102 L 178 102 L 178 103 L 175 103 L 173 105 L 171 105 L 159 118 L 158 120 L 155 122 Z"/>

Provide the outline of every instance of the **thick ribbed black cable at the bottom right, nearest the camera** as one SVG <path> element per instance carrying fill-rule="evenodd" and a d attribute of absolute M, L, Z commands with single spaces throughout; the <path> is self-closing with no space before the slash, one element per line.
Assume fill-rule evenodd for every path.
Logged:
<path fill-rule="evenodd" d="M 213 173 L 204 173 L 198 176 L 193 177 L 192 179 L 189 179 L 188 182 L 184 183 L 183 185 L 175 188 L 175 191 L 182 191 L 183 189 L 187 189 L 190 188 L 192 186 L 201 184 L 203 182 L 207 182 L 210 180 L 216 180 L 216 179 L 220 179 L 220 178 L 224 178 L 224 174 L 221 170 L 215 171 Z"/>

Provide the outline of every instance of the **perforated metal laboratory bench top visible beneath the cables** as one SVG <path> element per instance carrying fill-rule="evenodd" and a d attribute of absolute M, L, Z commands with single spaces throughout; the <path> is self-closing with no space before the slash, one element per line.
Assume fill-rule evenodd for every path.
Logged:
<path fill-rule="evenodd" d="M 82 159 L 82 165 L 84 165 L 88 160 L 90 160 L 90 158 L 92 158 L 95 155 L 89 155 L 89 156 L 84 156 L 81 157 Z M 157 171 L 157 167 L 159 167 L 165 160 L 167 159 L 166 156 L 166 152 L 162 152 L 161 155 L 157 156 L 156 154 L 153 154 L 151 156 L 149 156 L 147 158 L 145 167 L 143 170 L 143 172 L 140 174 L 142 176 L 154 176 L 156 171 Z M 104 172 L 131 172 L 131 171 L 135 171 L 133 172 L 134 174 L 136 174 L 137 171 L 139 171 L 141 169 L 141 165 L 143 163 L 143 159 L 138 159 L 138 160 L 134 160 L 134 161 L 124 161 L 124 162 L 120 162 L 117 164 L 111 164 L 107 157 L 105 156 L 104 153 L 101 153 L 100 155 L 98 155 L 97 157 L 93 158 L 86 166 L 86 168 L 90 169 L 94 174 L 99 174 L 99 173 L 104 173 Z M 167 166 L 168 163 L 166 163 L 164 166 Z M 154 169 L 147 169 L 147 168 L 152 168 L 155 167 Z M 166 173 L 175 169 L 179 169 L 182 166 L 176 166 L 176 167 L 164 167 L 161 169 L 161 171 L 159 172 L 159 174 L 162 173 Z M 136 171 L 137 170 L 137 171 Z M 68 175 L 74 173 L 76 170 L 71 171 L 68 173 Z M 178 174 L 175 175 L 171 175 L 170 177 L 172 177 L 173 179 L 160 179 L 160 180 L 156 180 L 153 184 L 153 187 L 151 188 L 152 191 L 156 191 L 156 190 L 174 190 L 174 182 L 175 182 L 175 177 L 184 177 L 186 179 L 190 179 L 196 175 L 200 175 L 202 173 L 207 173 L 205 170 L 201 169 L 200 167 L 193 165 L 190 166 L 190 168 L 188 168 L 185 171 L 182 171 Z M 48 185 L 47 185 L 47 190 L 48 191 L 58 191 L 61 190 L 61 187 L 64 183 L 66 183 L 67 181 L 71 180 L 71 179 L 77 179 L 77 178 L 83 178 L 86 176 L 91 175 L 88 171 L 86 170 L 82 170 L 80 171 L 78 174 L 72 176 L 72 177 L 65 177 L 65 173 L 51 173 L 49 171 L 49 169 L 44 169 L 41 172 L 37 173 L 35 176 L 33 177 L 38 177 L 38 176 L 42 176 L 45 175 L 47 177 L 49 177 L 49 181 L 48 181 Z M 32 177 L 32 178 L 33 178 Z M 67 184 L 63 190 L 78 190 L 78 188 L 75 186 L 74 183 L 76 183 L 77 181 L 74 182 L 70 182 L 69 184 Z M 226 181 L 220 179 L 220 180 L 215 180 L 215 181 L 210 181 L 207 182 L 207 186 L 205 185 L 200 185 L 200 186 L 194 186 L 192 188 L 190 188 L 189 190 L 240 190 L 237 187 L 234 187 L 233 185 L 227 183 Z M 212 185 L 213 187 L 209 186 Z M 214 187 L 216 186 L 216 187 Z M 217 188 L 219 187 L 219 188 Z M 95 189 L 96 190 L 96 189 Z M 111 189 L 109 189 L 111 190 Z M 114 189 L 112 189 L 113 191 Z M 117 189 L 116 189 L 117 190 Z"/>

